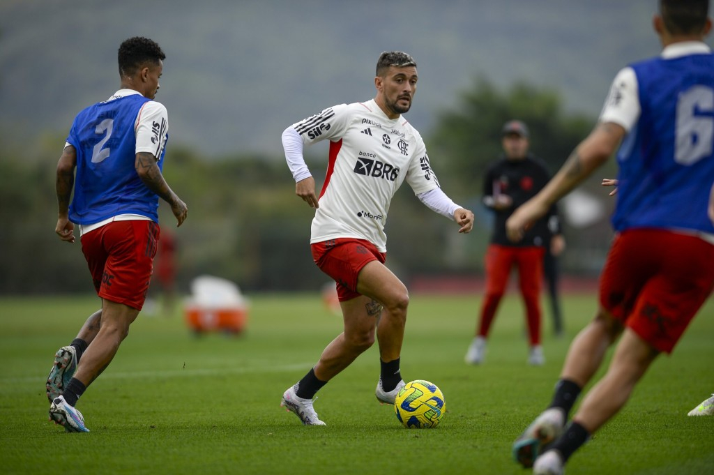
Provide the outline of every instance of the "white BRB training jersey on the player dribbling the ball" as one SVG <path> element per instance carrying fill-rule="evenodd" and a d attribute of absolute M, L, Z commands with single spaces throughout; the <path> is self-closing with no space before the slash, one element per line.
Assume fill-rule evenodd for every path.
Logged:
<path fill-rule="evenodd" d="M 303 144 L 330 141 L 311 243 L 353 237 L 385 252 L 389 204 L 403 181 L 414 194 L 439 186 L 418 131 L 402 116 L 389 119 L 374 100 L 332 106 L 293 128 Z"/>

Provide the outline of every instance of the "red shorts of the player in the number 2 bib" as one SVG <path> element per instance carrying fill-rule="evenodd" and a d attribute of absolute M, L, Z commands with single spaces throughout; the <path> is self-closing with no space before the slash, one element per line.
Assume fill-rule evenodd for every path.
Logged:
<path fill-rule="evenodd" d="M 154 221 L 113 221 L 81 237 L 94 289 L 102 299 L 141 310 L 159 240 Z"/>

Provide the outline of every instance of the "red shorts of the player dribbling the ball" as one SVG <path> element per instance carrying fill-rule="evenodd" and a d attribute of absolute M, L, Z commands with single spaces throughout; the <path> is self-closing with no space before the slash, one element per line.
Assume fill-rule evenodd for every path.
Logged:
<path fill-rule="evenodd" d="M 384 264 L 387 257 L 364 239 L 330 239 L 310 247 L 315 264 L 337 282 L 337 299 L 341 302 L 361 295 L 357 292 L 357 276 L 366 264 L 371 261 Z"/>

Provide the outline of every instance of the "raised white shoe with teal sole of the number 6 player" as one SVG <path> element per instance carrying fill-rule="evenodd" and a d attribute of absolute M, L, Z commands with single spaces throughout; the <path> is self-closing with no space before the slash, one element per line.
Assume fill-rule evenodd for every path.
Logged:
<path fill-rule="evenodd" d="M 557 439 L 563 432 L 564 426 L 563 409 L 558 407 L 545 409 L 513 442 L 513 458 L 526 469 L 530 468 L 543 446 Z"/>

